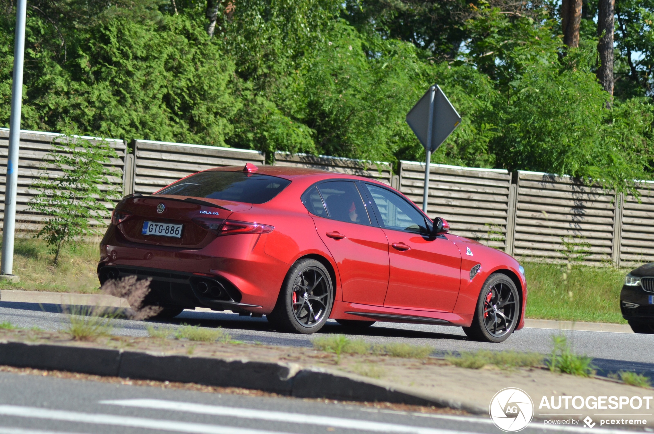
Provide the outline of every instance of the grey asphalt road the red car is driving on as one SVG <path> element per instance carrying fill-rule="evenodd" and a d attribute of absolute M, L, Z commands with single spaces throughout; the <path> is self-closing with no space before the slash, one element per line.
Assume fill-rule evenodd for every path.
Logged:
<path fill-rule="evenodd" d="M 60 312 L 59 305 L 0 302 L 0 322 L 9 321 L 20 327 L 37 326 L 44 330 L 60 330 L 65 328 L 68 322 L 68 316 Z M 117 319 L 113 333 L 146 336 L 146 326 L 154 322 Z M 228 331 L 233 339 L 247 343 L 311 347 L 311 335 L 277 332 L 269 327 L 265 317 L 250 318 L 239 317 L 233 313 L 186 310 L 173 320 L 156 322 L 169 324 L 171 327 L 182 323 L 203 327 L 220 326 Z M 370 343 L 404 342 L 430 345 L 436 349 L 436 354 L 477 349 L 548 354 L 551 351 L 552 335 L 565 333 L 577 354 L 594 358 L 600 375 L 623 369 L 654 377 L 654 335 L 525 328 L 513 333 L 504 343 L 493 344 L 470 341 L 458 327 L 377 322 L 370 328 L 358 330 L 341 326 L 332 320 L 328 321 L 320 333 L 342 333 L 351 339 L 364 339 Z"/>

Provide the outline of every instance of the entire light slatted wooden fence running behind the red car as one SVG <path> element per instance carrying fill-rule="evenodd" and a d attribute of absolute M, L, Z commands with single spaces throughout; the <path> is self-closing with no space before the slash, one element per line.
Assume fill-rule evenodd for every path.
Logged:
<path fill-rule="evenodd" d="M 0 166 L 7 166 L 9 131 L 0 129 Z M 37 191 L 29 189 L 42 172 L 52 142 L 50 132 L 22 131 L 18 168 L 16 228 L 38 230 L 47 216 L 31 211 Z M 86 138 L 97 140 L 96 138 Z M 262 165 L 258 151 L 135 140 L 131 152 L 121 140 L 107 139 L 118 159 L 110 165 L 122 174 L 111 183 L 124 194 L 149 194 L 183 176 L 216 166 Z M 275 165 L 311 167 L 379 179 L 422 206 L 424 163 L 401 161 L 399 175 L 390 163 L 304 154 L 275 153 Z M 6 169 L 0 167 L 4 211 Z M 52 168 L 48 173 L 56 175 Z M 586 187 L 569 177 L 540 172 L 430 166 L 428 214 L 443 217 L 451 232 L 502 249 L 521 260 L 633 266 L 654 261 L 654 182 L 640 184 L 640 202 L 632 196 Z M 107 204 L 112 209 L 113 204 Z M 0 217 L 3 214 L 0 213 Z M 105 222 L 108 223 L 108 222 Z"/>

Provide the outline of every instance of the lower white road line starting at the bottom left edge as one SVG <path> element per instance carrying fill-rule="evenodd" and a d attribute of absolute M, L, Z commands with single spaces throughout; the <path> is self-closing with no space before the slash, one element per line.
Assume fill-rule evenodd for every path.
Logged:
<path fill-rule="evenodd" d="M 77 411 L 49 410 L 39 409 L 37 407 L 21 407 L 19 405 L 0 405 L 0 414 L 21 418 L 63 420 L 65 422 L 82 422 L 84 424 L 160 429 L 162 431 L 177 431 L 179 433 L 192 434 L 287 434 L 279 431 L 264 431 L 262 429 L 196 424 L 194 422 L 180 422 L 178 420 L 134 418 L 131 416 L 118 416 L 115 414 L 93 414 Z"/>

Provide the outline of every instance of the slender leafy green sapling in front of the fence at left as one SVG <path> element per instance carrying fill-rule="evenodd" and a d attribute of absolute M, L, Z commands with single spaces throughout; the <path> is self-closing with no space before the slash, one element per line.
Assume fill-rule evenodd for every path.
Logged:
<path fill-rule="evenodd" d="M 93 143 L 75 136 L 62 136 L 52 147 L 39 179 L 31 185 L 39 194 L 29 210 L 50 216 L 35 237 L 46 240 L 57 264 L 63 243 L 99 233 L 97 221 L 108 214 L 103 201 L 118 196 L 109 183 L 116 174 L 105 166 L 117 155 L 106 141 Z M 48 173 L 49 169 L 56 172 Z"/>

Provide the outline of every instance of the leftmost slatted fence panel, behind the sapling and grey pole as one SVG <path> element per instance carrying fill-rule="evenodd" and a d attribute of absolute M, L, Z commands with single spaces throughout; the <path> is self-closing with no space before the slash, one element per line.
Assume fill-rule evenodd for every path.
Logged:
<path fill-rule="evenodd" d="M 18 188 L 16 189 L 16 230 L 20 231 L 34 231 L 39 230 L 44 221 L 48 218 L 46 215 L 28 211 L 29 202 L 33 200 L 34 196 L 39 194 L 39 191 L 30 189 L 30 185 L 46 173 L 50 176 L 56 176 L 58 173 L 54 170 L 52 165 L 44 166 L 43 157 L 52 151 L 52 143 L 61 140 L 61 134 L 54 132 L 38 132 L 38 131 L 21 131 L 20 132 L 20 158 L 18 159 Z M 98 142 L 99 140 L 94 137 L 80 137 L 90 142 Z M 123 166 L 125 159 L 126 146 L 122 140 L 105 139 L 111 147 L 116 149 L 118 159 L 111 159 L 107 166 L 113 166 L 115 171 L 120 174 L 120 177 L 110 177 L 109 181 L 118 187 L 120 191 L 123 189 Z M 9 152 L 9 129 L 0 128 L 0 218 L 5 217 L 5 186 L 7 182 L 7 154 Z M 41 168 L 46 167 L 46 170 Z M 101 187 L 102 188 L 102 187 Z M 112 203 L 107 203 L 107 209 L 113 209 Z M 105 220 L 105 224 L 109 224 L 109 220 Z"/>

